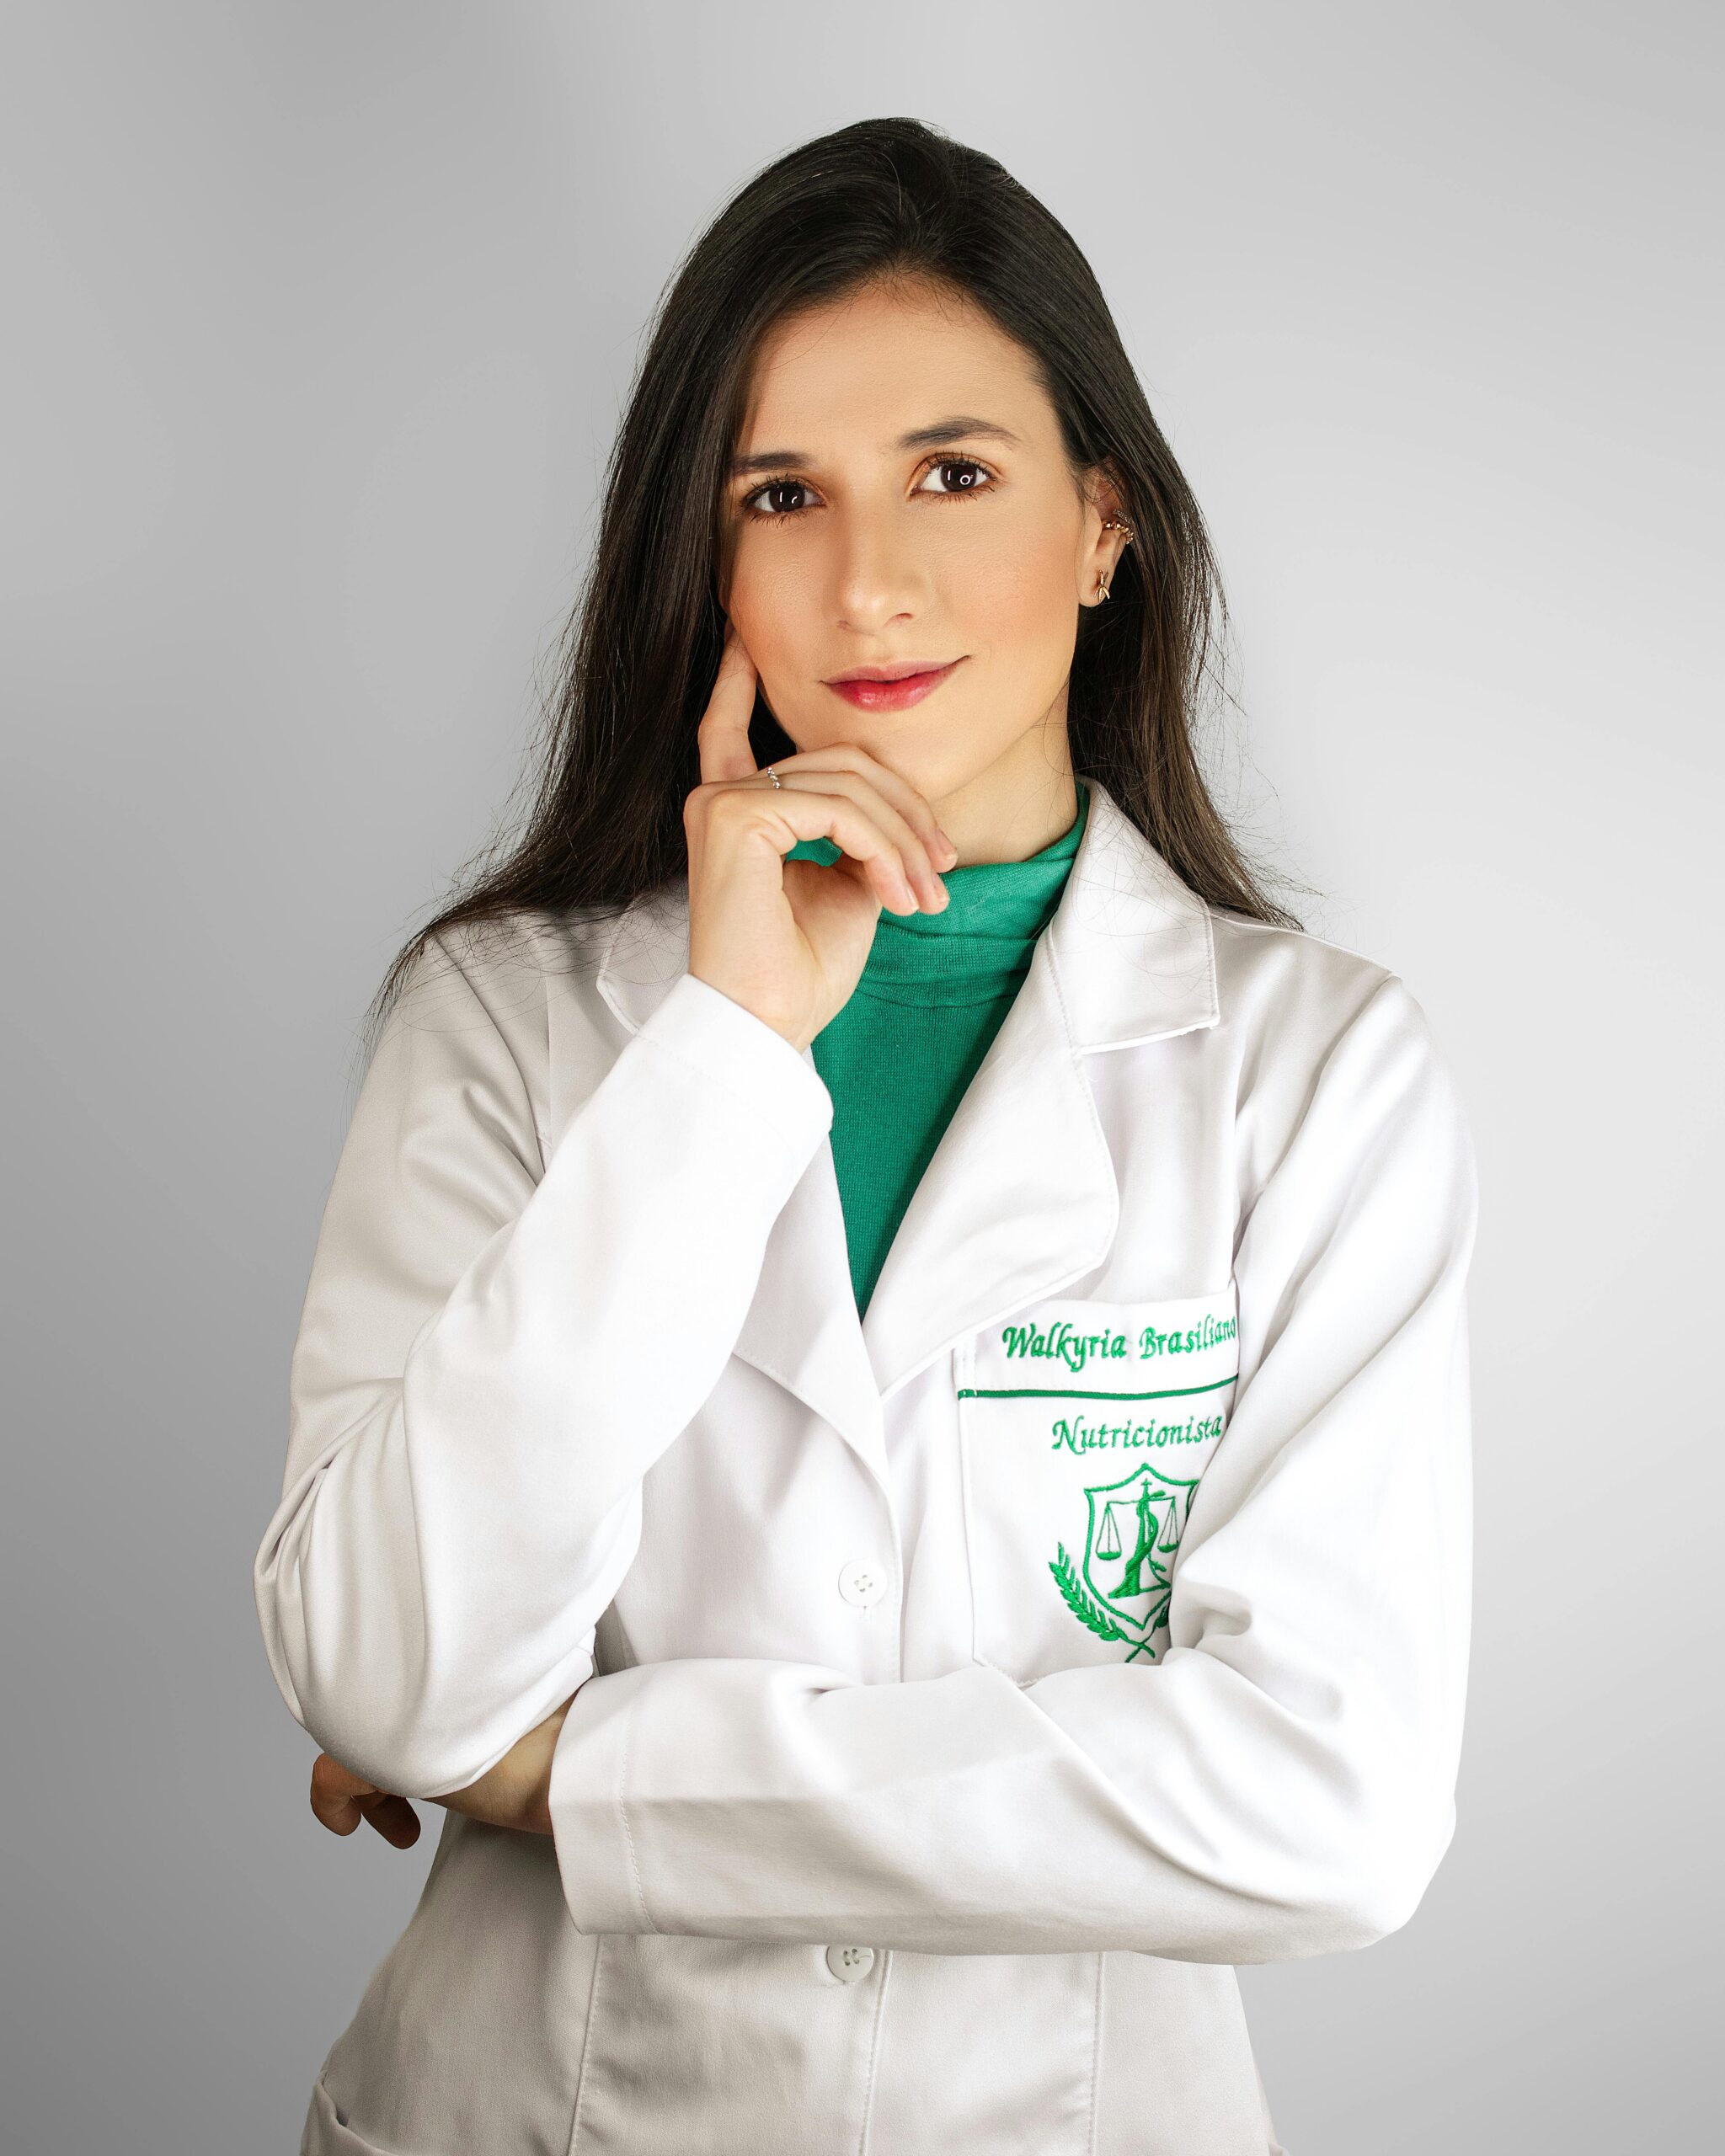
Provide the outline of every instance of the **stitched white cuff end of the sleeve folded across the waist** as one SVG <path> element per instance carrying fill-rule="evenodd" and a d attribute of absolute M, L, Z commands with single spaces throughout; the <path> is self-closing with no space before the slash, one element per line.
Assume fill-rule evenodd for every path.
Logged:
<path fill-rule="evenodd" d="M 552 1751 L 552 1846 L 563 1899 L 582 1934 L 653 1932 L 623 1813 L 630 1718 L 651 1675 L 619 1669 L 589 1677 L 569 1703 Z"/>

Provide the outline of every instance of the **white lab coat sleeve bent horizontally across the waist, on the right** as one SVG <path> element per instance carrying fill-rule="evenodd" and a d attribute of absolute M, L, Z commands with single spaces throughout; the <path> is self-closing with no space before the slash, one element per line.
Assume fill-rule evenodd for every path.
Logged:
<path fill-rule="evenodd" d="M 550 1777 L 578 1930 L 1270 1962 L 1412 1915 L 1455 1828 L 1475 1153 L 1395 975 L 1305 1097 L 1242 1203 L 1162 1660 L 599 1675 Z"/>

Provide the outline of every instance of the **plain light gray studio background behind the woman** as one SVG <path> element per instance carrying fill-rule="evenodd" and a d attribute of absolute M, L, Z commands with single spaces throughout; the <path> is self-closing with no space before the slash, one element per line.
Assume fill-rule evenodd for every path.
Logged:
<path fill-rule="evenodd" d="M 412 1910 L 438 1807 L 315 1824 L 250 1602 L 354 1028 L 505 806 L 673 261 L 878 112 L 1095 263 L 1220 548 L 1225 791 L 1475 1117 L 1460 1830 L 1404 1932 L 1242 1973 L 1283 2139 L 1695 2145 L 1719 13 L 153 0 L 0 60 L 6 2147 L 295 2147 Z"/>

